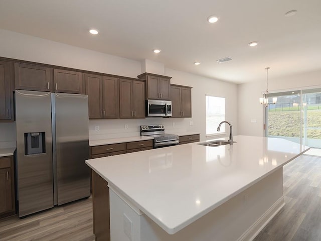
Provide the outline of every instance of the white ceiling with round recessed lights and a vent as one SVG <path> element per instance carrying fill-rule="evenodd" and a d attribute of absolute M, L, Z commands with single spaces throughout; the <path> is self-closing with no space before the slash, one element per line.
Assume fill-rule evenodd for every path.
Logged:
<path fill-rule="evenodd" d="M 0 28 L 234 83 L 321 69 L 321 0 L 0 0 Z"/>

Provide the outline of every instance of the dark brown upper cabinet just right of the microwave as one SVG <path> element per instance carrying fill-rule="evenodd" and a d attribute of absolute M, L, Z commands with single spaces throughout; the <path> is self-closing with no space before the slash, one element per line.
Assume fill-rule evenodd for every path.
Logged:
<path fill-rule="evenodd" d="M 171 84 L 172 117 L 192 117 L 192 87 Z"/>

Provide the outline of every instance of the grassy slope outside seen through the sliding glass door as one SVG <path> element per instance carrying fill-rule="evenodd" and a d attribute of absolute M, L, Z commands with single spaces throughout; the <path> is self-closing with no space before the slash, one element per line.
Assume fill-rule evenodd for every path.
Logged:
<path fill-rule="evenodd" d="M 320 109 L 317 109 L 317 106 L 311 107 L 314 109 L 307 110 L 306 136 L 311 139 L 321 139 L 321 106 Z M 300 137 L 300 125 L 300 110 L 269 110 L 269 136 Z"/>

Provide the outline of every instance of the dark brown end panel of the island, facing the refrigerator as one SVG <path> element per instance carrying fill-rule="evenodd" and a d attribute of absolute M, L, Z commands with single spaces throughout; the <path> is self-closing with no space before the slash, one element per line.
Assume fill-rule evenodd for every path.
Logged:
<path fill-rule="evenodd" d="M 109 188 L 92 170 L 93 229 L 96 241 L 110 241 Z"/>

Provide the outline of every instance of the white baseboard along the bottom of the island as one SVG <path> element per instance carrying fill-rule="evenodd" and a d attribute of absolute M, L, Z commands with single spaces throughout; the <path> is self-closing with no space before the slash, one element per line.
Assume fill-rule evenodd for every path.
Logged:
<path fill-rule="evenodd" d="M 253 223 L 237 241 L 253 240 L 256 235 L 266 226 L 266 224 L 284 207 L 284 196 L 279 198 L 256 222 Z"/>

